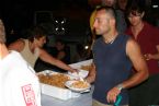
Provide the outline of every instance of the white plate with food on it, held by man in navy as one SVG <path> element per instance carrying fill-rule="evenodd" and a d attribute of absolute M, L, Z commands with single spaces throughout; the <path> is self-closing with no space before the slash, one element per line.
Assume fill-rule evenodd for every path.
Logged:
<path fill-rule="evenodd" d="M 65 85 L 75 92 L 83 92 L 86 90 L 90 90 L 91 85 L 90 83 L 86 81 L 79 81 L 79 80 L 70 80 L 65 83 Z"/>

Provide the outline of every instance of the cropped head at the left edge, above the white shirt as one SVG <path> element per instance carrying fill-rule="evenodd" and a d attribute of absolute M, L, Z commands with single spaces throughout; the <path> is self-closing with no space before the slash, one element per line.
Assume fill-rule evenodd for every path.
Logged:
<path fill-rule="evenodd" d="M 0 20 L 0 43 L 4 44 L 5 42 L 5 30 L 2 20 Z"/>

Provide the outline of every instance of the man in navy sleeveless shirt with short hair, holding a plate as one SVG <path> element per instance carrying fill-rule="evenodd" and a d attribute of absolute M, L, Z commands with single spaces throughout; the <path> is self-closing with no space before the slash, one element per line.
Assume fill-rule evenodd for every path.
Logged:
<path fill-rule="evenodd" d="M 94 82 L 93 106 L 115 105 L 122 96 L 120 106 L 128 106 L 127 89 L 148 78 L 146 61 L 138 44 L 116 30 L 113 8 L 96 9 L 93 28 L 102 35 L 93 45 L 93 64 L 87 81 Z M 132 67 L 137 71 L 132 75 Z"/>

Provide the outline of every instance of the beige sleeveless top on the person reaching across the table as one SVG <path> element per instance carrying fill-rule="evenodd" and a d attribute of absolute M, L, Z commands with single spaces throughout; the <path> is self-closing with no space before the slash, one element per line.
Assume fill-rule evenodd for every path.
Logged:
<path fill-rule="evenodd" d="M 35 62 L 37 58 L 39 57 L 39 49 L 35 48 L 34 52 L 32 52 L 29 47 L 29 39 L 24 39 L 24 42 L 25 42 L 25 46 L 23 50 L 21 51 L 21 55 L 31 64 L 31 67 L 34 68 Z"/>

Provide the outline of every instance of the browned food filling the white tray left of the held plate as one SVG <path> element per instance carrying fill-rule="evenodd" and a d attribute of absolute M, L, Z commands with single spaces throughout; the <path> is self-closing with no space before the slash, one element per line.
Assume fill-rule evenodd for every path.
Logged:
<path fill-rule="evenodd" d="M 65 83 L 70 80 L 69 76 L 63 73 L 50 74 L 50 75 L 38 74 L 38 78 L 41 83 L 45 83 L 63 89 L 65 89 Z"/>

